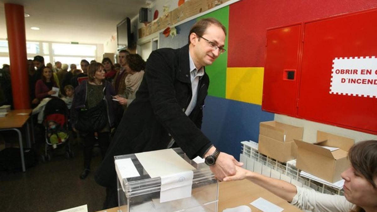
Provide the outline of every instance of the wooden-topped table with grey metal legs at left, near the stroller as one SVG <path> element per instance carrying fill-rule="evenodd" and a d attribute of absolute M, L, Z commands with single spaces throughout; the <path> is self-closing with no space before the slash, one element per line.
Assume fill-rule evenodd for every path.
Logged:
<path fill-rule="evenodd" d="M 22 134 L 18 128 L 23 128 L 26 123 L 26 146 L 31 147 L 30 141 L 30 126 L 28 120 L 31 122 L 32 128 L 32 137 L 34 140 L 34 129 L 32 127 L 32 120 L 31 120 L 31 111 L 32 109 L 23 109 L 23 110 L 12 110 L 9 111 L 5 117 L 0 117 L 0 131 L 7 131 L 7 130 L 14 130 L 18 134 L 18 142 L 20 143 L 20 154 L 21 154 L 21 166 L 22 171 L 26 171 L 25 167 L 25 159 L 24 159 L 24 152 L 23 152 L 23 142 L 22 142 Z M 20 113 L 28 114 L 28 115 L 17 115 Z"/>

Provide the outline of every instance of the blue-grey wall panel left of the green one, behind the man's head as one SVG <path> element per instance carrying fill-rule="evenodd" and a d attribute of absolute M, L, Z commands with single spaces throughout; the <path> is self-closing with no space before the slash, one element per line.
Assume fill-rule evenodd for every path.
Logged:
<path fill-rule="evenodd" d="M 172 37 L 165 37 L 162 32 L 159 36 L 160 48 L 173 48 L 178 49 L 182 46 L 186 45 L 189 42 L 189 33 L 191 27 L 196 23 L 196 19 L 193 19 L 189 22 L 182 23 L 181 25 L 176 26 L 177 28 L 177 36 Z"/>

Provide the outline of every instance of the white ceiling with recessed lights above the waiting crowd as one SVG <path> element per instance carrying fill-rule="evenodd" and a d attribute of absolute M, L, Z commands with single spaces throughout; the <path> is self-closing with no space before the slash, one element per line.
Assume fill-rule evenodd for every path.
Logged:
<path fill-rule="evenodd" d="M 0 38 L 6 38 L 4 3 L 24 6 L 26 40 L 103 44 L 116 25 L 135 17 L 146 0 L 0 0 Z M 38 27 L 40 30 L 32 30 Z"/>

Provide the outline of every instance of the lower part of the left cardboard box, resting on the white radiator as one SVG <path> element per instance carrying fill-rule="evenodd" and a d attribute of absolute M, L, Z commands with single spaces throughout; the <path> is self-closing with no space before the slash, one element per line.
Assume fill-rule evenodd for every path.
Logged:
<path fill-rule="evenodd" d="M 280 162 L 296 159 L 297 146 L 294 141 L 278 141 L 259 134 L 258 151 Z"/>

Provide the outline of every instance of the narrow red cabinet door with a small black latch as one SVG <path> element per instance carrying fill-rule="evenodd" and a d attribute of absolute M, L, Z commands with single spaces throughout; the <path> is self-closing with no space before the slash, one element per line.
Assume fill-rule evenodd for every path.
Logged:
<path fill-rule="evenodd" d="M 302 25 L 267 30 L 262 109 L 296 115 Z"/>

